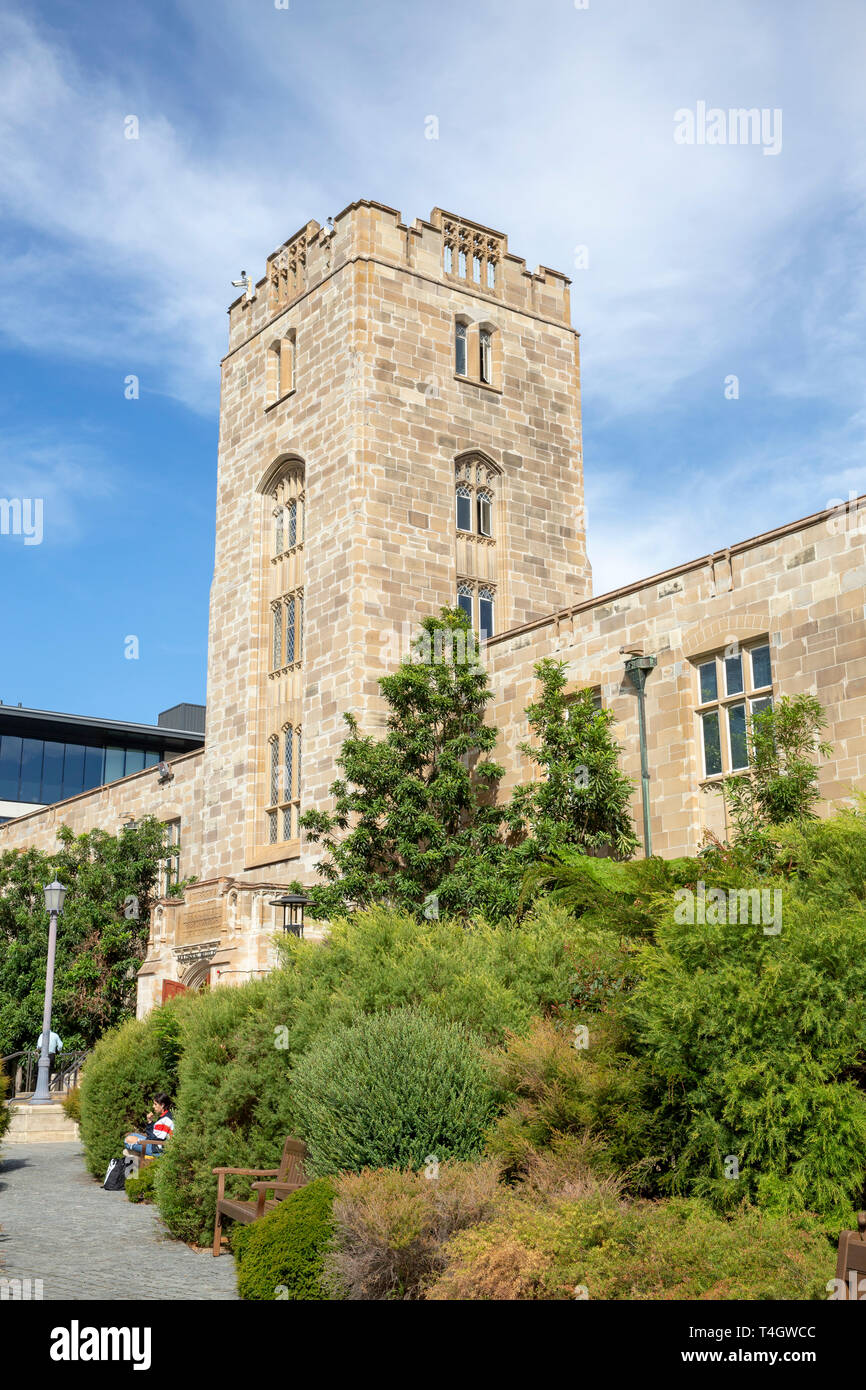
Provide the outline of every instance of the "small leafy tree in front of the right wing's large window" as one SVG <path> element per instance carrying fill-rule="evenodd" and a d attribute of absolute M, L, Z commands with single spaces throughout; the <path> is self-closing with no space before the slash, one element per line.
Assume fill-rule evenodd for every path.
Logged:
<path fill-rule="evenodd" d="M 820 701 L 805 694 L 783 695 L 776 705 L 749 716 L 749 770 L 726 777 L 719 790 L 737 841 L 753 852 L 760 851 L 770 826 L 815 816 L 820 801 L 815 758 L 833 752 L 820 739 L 826 724 Z"/>

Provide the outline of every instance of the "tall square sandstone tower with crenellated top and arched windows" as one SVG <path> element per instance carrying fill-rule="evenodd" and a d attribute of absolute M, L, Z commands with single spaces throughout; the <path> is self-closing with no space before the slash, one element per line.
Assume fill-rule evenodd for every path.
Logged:
<path fill-rule="evenodd" d="M 441 208 L 309 222 L 229 310 L 202 878 L 309 877 L 299 813 L 423 614 L 589 592 L 566 277 Z"/>

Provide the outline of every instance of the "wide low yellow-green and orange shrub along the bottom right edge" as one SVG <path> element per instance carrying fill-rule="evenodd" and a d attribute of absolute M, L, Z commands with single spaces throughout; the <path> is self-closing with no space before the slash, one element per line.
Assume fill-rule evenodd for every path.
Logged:
<path fill-rule="evenodd" d="M 808 1216 L 742 1209 L 730 1219 L 698 1200 L 574 1201 L 510 1193 L 493 1220 L 456 1234 L 427 1297 L 592 1300 L 826 1298 L 834 1252 Z"/>

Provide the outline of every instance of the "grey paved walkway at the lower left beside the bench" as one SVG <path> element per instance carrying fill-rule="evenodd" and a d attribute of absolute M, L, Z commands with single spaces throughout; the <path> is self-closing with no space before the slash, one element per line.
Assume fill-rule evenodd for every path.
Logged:
<path fill-rule="evenodd" d="M 81 1144 L 0 1155 L 0 1279 L 42 1279 L 43 1298 L 236 1298 L 235 1261 L 172 1240 L 156 1207 L 104 1193 Z"/>

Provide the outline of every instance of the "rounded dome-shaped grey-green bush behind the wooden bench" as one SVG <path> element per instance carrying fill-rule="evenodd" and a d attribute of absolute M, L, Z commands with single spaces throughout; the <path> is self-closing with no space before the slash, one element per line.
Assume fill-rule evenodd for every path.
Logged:
<path fill-rule="evenodd" d="M 423 1009 L 336 1029 L 292 1073 L 313 1175 L 474 1158 L 492 1118 L 478 1042 Z"/>

